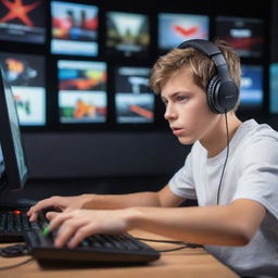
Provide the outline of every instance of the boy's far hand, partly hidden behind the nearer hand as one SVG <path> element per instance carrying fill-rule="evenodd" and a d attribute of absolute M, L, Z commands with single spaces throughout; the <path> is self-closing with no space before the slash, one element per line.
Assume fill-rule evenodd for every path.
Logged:
<path fill-rule="evenodd" d="M 30 222 L 35 222 L 37 219 L 38 213 L 42 210 L 53 207 L 53 210 L 75 210 L 81 208 L 83 205 L 87 202 L 88 195 L 77 195 L 77 197 L 51 197 L 45 200 L 39 201 L 34 206 L 29 208 L 27 212 L 27 216 L 29 216 Z"/>

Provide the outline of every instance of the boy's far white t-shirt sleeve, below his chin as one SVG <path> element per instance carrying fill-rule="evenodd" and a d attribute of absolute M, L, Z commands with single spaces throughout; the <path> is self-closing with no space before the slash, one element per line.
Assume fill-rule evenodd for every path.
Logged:
<path fill-rule="evenodd" d="M 191 152 L 186 159 L 185 165 L 169 180 L 169 189 L 178 197 L 185 199 L 197 199 L 192 177 Z"/>

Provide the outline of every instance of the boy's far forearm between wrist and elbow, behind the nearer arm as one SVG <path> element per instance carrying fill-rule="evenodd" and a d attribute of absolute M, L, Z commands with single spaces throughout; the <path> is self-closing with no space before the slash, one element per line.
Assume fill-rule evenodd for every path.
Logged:
<path fill-rule="evenodd" d="M 84 194 L 83 208 L 119 210 L 132 206 L 161 206 L 156 192 L 139 192 L 130 194 Z"/>

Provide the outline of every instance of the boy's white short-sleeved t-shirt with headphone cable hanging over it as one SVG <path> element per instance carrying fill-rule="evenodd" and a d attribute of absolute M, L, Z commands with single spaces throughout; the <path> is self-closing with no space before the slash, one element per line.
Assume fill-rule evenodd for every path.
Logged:
<path fill-rule="evenodd" d="M 216 205 L 227 150 L 214 157 L 198 141 L 169 180 L 178 197 L 197 199 L 200 206 Z M 219 205 L 236 199 L 260 202 L 267 214 L 249 244 L 206 245 L 205 249 L 241 276 L 278 277 L 278 132 L 254 119 L 244 122 L 229 144 Z"/>

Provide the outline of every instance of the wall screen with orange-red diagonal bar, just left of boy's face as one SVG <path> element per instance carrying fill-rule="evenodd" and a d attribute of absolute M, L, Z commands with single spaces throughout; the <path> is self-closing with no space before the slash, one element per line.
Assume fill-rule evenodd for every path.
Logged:
<path fill-rule="evenodd" d="M 154 122 L 154 93 L 149 88 L 149 67 L 117 67 L 115 106 L 118 124 Z"/>

